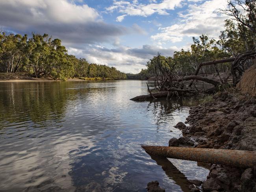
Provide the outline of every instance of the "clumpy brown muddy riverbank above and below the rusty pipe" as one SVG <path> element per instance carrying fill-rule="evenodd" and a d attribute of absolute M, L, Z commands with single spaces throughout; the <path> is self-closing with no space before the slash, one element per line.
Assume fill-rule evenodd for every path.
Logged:
<path fill-rule="evenodd" d="M 256 150 L 256 97 L 222 92 L 212 102 L 191 108 L 182 129 L 185 142 L 171 139 L 169 146 Z M 188 139 L 189 138 L 189 139 Z M 179 139 L 180 140 L 180 139 Z M 191 144 L 193 141 L 193 146 Z M 205 192 L 256 192 L 256 166 L 236 168 L 211 164 L 202 183 Z"/>

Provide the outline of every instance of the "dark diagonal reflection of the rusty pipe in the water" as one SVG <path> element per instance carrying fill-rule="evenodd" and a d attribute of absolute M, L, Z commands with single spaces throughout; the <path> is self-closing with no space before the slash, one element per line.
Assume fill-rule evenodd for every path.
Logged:
<path fill-rule="evenodd" d="M 180 172 L 167 158 L 158 157 L 150 153 L 148 153 L 148 155 L 150 155 L 151 159 L 155 160 L 156 163 L 162 167 L 165 174 L 170 179 L 172 179 L 177 185 L 180 186 L 182 191 L 184 192 L 190 191 L 188 186 L 191 184 L 187 181 L 187 177 L 182 172 Z"/>

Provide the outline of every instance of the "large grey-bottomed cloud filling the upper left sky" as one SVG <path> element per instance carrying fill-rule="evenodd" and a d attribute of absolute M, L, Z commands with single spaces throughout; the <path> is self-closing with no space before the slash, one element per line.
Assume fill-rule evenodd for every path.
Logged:
<path fill-rule="evenodd" d="M 113 42 L 129 33 L 107 24 L 98 12 L 69 0 L 8 0 L 0 2 L 0 26 L 17 33 L 48 33 L 65 44 Z"/>

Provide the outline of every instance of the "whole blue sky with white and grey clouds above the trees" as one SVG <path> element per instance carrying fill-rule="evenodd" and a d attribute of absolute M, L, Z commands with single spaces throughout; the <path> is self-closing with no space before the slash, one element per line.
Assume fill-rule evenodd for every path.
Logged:
<path fill-rule="evenodd" d="M 138 73 L 160 52 L 187 50 L 192 37 L 218 39 L 226 0 L 0 0 L 0 29 L 47 33 L 89 63 Z"/>

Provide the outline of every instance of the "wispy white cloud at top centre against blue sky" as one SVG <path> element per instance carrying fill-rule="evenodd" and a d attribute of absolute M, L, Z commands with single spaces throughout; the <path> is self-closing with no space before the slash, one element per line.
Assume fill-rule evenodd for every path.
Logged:
<path fill-rule="evenodd" d="M 138 1 L 132 3 L 128 1 L 116 1 L 113 5 L 106 8 L 107 12 L 112 13 L 118 11 L 122 15 L 118 16 L 116 21 L 121 22 L 127 15 L 130 16 L 143 16 L 148 17 L 154 13 L 159 15 L 169 15 L 167 10 L 173 10 L 175 7 L 180 7 L 182 0 L 163 0 L 161 3 L 157 3 L 156 0 L 151 0 L 150 4 L 139 4 Z"/>

